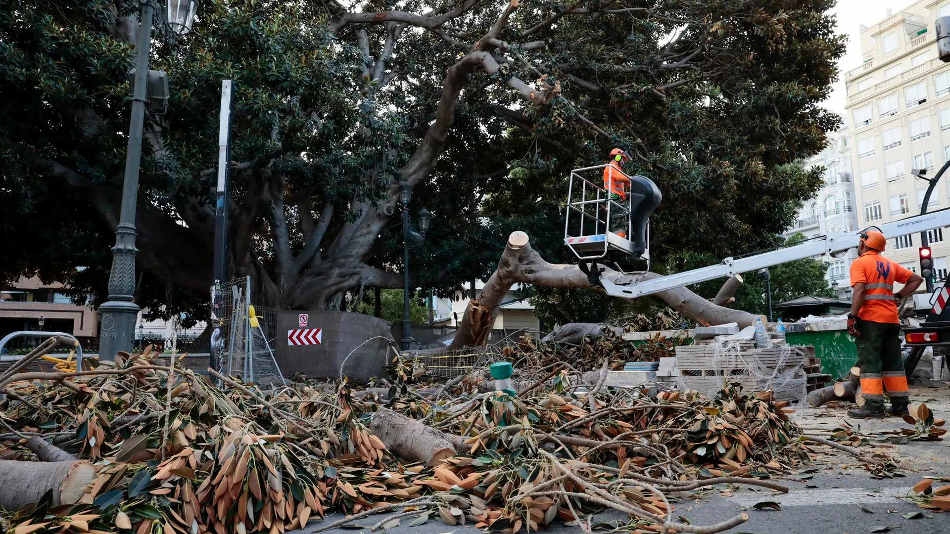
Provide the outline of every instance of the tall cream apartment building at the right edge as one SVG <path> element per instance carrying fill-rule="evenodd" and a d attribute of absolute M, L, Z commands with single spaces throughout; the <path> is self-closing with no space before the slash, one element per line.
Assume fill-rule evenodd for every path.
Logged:
<path fill-rule="evenodd" d="M 863 63 L 845 72 L 848 141 L 858 226 L 920 213 L 932 177 L 950 159 L 950 65 L 937 58 L 934 21 L 950 15 L 950 0 L 924 0 L 862 27 Z M 950 205 L 940 181 L 928 210 Z M 947 276 L 950 228 L 928 233 L 935 275 Z M 915 272 L 921 236 L 889 238 L 885 257 Z"/>

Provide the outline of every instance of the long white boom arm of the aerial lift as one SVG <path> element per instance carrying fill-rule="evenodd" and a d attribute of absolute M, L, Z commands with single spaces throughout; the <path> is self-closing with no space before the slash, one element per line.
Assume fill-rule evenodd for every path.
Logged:
<path fill-rule="evenodd" d="M 950 226 L 950 208 L 932 213 L 917 215 L 907 219 L 894 220 L 880 226 L 881 232 L 888 238 L 898 238 L 917 232 L 926 232 Z M 717 265 L 700 267 L 692 271 L 675 273 L 666 277 L 658 277 L 641 282 L 621 285 L 608 277 L 600 277 L 603 289 L 610 296 L 620 298 L 637 298 L 683 287 L 699 282 L 714 280 L 721 277 L 731 277 L 742 273 L 757 271 L 772 265 L 779 265 L 804 259 L 806 257 L 823 256 L 826 254 L 843 253 L 858 246 L 858 233 L 828 232 L 826 236 L 808 239 L 806 242 L 778 250 L 755 254 L 748 257 L 727 257 Z"/>

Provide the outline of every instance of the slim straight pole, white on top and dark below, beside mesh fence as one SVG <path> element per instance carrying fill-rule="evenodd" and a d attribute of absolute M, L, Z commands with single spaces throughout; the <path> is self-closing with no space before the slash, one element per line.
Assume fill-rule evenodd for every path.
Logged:
<path fill-rule="evenodd" d="M 215 252 L 212 292 L 220 291 L 228 279 L 228 189 L 231 175 L 231 113 L 234 110 L 231 80 L 221 81 L 220 122 L 218 124 L 218 188 L 215 193 Z M 214 297 L 212 297 L 214 302 Z M 216 314 L 217 315 L 217 314 Z M 220 328 L 218 325 L 217 328 Z M 211 354 L 211 368 L 220 371 L 221 353 Z"/>

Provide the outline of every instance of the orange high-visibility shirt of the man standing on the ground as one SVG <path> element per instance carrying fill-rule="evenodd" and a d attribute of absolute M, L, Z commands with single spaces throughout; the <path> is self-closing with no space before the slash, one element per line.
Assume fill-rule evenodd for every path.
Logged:
<path fill-rule="evenodd" d="M 851 262 L 851 286 L 864 282 L 864 303 L 858 316 L 876 323 L 900 323 L 894 301 L 894 282 L 907 283 L 911 271 L 869 250 Z"/>

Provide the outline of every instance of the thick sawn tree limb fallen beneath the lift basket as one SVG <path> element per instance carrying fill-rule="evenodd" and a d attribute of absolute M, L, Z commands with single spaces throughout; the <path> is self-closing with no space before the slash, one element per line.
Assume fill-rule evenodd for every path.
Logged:
<path fill-rule="evenodd" d="M 660 277 L 655 273 L 636 273 L 625 275 L 607 269 L 601 275 L 618 284 L 630 284 L 638 281 Z M 488 278 L 485 287 L 477 300 L 471 300 L 462 325 L 455 334 L 448 350 L 463 347 L 478 347 L 485 345 L 491 324 L 498 315 L 502 298 L 516 283 L 529 283 L 545 287 L 559 288 L 588 288 L 599 290 L 591 286 L 590 280 L 580 271 L 577 265 L 553 264 L 544 261 L 528 242 L 524 232 L 513 232 L 508 237 L 498 268 Z M 712 304 L 709 300 L 694 294 L 686 288 L 675 288 L 656 294 L 665 300 L 676 311 L 703 324 L 725 324 L 735 322 L 740 327 L 750 326 L 755 317 L 741 310 L 731 310 Z M 441 349 L 440 349 L 441 351 Z"/>

